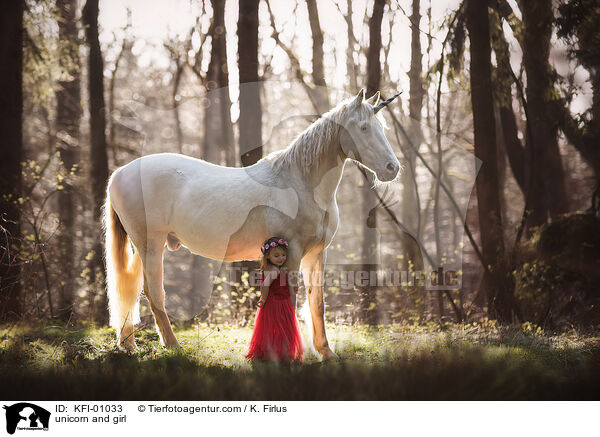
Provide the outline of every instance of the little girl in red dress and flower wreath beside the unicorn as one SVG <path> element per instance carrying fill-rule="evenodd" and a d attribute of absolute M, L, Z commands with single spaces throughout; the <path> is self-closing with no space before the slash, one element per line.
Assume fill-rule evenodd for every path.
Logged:
<path fill-rule="evenodd" d="M 261 247 L 261 297 L 254 332 L 246 358 L 286 363 L 302 361 L 304 353 L 298 319 L 296 293 L 290 291 L 284 266 L 288 243 L 282 238 L 269 238 Z"/>

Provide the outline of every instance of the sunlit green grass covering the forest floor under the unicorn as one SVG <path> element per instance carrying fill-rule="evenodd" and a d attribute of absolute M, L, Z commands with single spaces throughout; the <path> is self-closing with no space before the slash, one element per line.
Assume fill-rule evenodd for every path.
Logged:
<path fill-rule="evenodd" d="M 0 326 L 4 399 L 31 400 L 532 400 L 597 399 L 600 338 L 529 324 L 328 326 L 340 362 L 309 349 L 291 367 L 244 359 L 250 328 L 153 329 L 138 351 L 90 326 Z"/>

